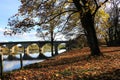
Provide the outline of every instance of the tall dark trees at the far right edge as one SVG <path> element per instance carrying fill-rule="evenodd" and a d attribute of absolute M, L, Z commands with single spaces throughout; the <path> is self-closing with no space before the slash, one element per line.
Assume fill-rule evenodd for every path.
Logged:
<path fill-rule="evenodd" d="M 109 42 L 110 45 L 119 45 L 120 41 L 120 24 L 119 24 L 119 15 L 120 15 L 120 1 L 112 0 L 109 10 L 110 14 L 110 25 L 109 28 Z"/>

